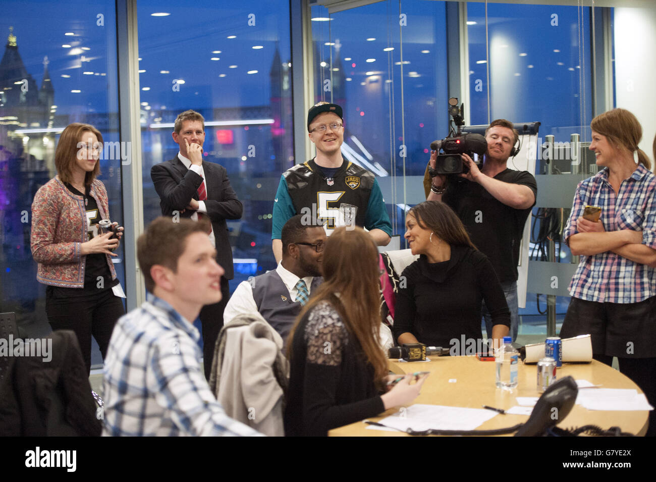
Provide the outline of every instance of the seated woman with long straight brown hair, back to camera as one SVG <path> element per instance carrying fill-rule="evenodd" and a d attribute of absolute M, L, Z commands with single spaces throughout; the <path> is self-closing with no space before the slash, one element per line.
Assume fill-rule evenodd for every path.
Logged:
<path fill-rule="evenodd" d="M 424 382 L 407 376 L 388 389 L 380 350 L 378 251 L 362 228 L 338 228 L 323 252 L 323 283 L 287 342 L 290 362 L 285 435 L 331 428 L 411 403 Z"/>

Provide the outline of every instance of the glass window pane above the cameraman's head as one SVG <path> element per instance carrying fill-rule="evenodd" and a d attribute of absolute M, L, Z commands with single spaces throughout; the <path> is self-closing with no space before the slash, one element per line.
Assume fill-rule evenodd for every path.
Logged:
<path fill-rule="evenodd" d="M 539 121 L 542 137 L 589 140 L 590 9 L 468 2 L 467 24 L 472 125 Z"/>

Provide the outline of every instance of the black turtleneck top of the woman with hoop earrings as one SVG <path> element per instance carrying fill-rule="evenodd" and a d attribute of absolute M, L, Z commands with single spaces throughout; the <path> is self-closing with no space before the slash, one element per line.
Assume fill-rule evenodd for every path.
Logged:
<path fill-rule="evenodd" d="M 405 281 L 405 283 L 404 283 Z M 425 255 L 405 268 L 400 277 L 394 315 L 394 340 L 410 332 L 428 346 L 453 346 L 461 336 L 482 338 L 481 305 L 493 325 L 510 327 L 510 311 L 487 256 L 476 249 L 451 247 L 451 258 L 429 263 Z"/>

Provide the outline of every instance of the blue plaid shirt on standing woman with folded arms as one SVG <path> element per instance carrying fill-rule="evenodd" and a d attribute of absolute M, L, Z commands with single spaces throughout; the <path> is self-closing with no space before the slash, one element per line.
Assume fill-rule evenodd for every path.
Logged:
<path fill-rule="evenodd" d="M 608 168 L 579 182 L 563 239 L 578 233 L 576 220 L 586 205 L 602 208 L 606 231 L 642 231 L 642 244 L 656 249 L 656 176 L 642 164 L 625 179 L 617 196 L 608 182 Z M 569 294 L 581 300 L 637 303 L 656 296 L 656 270 L 611 251 L 581 256 L 569 284 Z"/>

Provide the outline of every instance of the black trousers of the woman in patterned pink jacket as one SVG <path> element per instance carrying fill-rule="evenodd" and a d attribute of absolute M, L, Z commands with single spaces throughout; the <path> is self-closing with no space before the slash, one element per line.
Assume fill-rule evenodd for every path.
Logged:
<path fill-rule="evenodd" d="M 114 325 L 125 315 L 122 299 L 111 289 L 68 298 L 53 298 L 46 290 L 45 311 L 52 330 L 75 332 L 87 374 L 91 372 L 91 336 L 96 338 L 104 360 Z"/>

